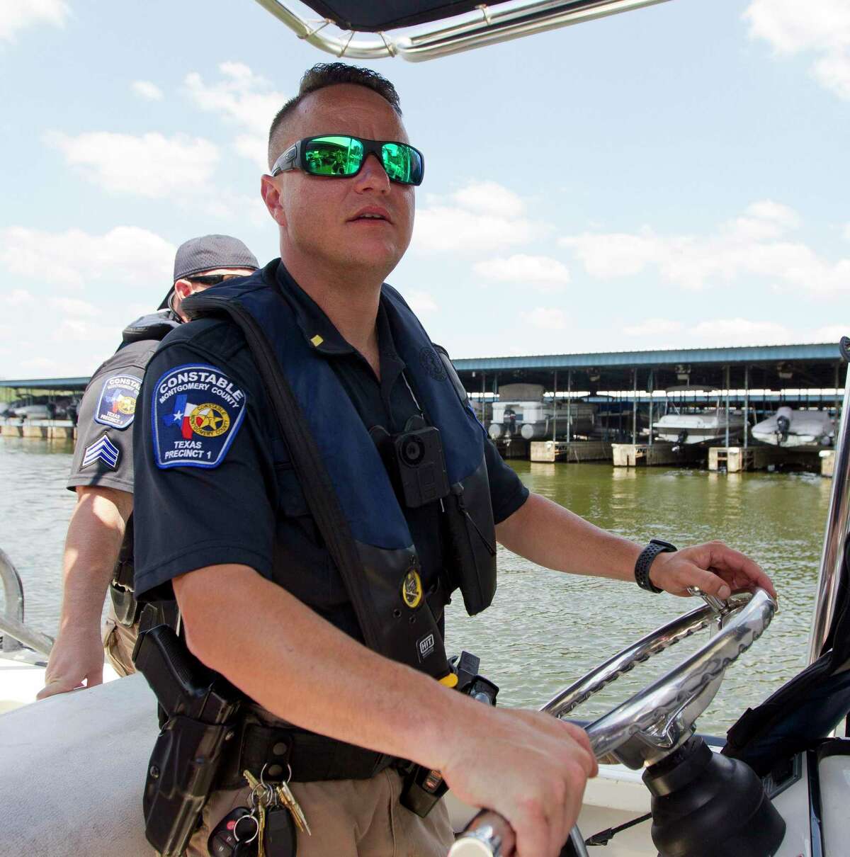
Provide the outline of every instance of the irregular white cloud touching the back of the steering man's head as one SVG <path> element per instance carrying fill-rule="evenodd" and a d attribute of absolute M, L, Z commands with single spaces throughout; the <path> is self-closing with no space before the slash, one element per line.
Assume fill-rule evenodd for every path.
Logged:
<path fill-rule="evenodd" d="M 186 76 L 186 92 L 201 110 L 216 113 L 241 129 L 233 143 L 236 152 L 266 171 L 268 129 L 288 96 L 244 63 L 220 63 L 218 70 L 222 79 L 210 84 L 191 72 Z"/>

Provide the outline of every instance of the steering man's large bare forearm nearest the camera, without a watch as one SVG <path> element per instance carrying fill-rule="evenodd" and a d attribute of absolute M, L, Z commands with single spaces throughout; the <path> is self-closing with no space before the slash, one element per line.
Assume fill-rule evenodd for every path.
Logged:
<path fill-rule="evenodd" d="M 248 566 L 189 572 L 174 589 L 195 655 L 296 726 L 440 767 L 450 734 L 486 717 L 486 706 L 376 655 Z"/>

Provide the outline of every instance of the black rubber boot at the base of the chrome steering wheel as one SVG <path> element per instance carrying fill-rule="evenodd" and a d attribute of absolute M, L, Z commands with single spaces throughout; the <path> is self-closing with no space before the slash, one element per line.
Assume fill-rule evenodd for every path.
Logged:
<path fill-rule="evenodd" d="M 748 764 L 697 735 L 643 772 L 659 857 L 772 857 L 785 821 Z"/>

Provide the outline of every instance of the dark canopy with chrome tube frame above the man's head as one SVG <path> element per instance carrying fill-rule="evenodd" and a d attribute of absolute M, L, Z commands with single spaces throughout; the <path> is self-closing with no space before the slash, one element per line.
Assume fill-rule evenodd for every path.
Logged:
<path fill-rule="evenodd" d="M 257 0 L 322 51 L 351 59 L 421 62 L 666 0 Z M 320 17 L 311 17 L 314 12 Z M 416 31 L 387 35 L 389 30 Z M 373 33 L 360 37 L 357 33 Z"/>

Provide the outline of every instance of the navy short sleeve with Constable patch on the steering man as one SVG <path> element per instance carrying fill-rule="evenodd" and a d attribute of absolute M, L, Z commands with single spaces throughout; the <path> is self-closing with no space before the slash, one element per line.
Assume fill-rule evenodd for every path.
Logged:
<path fill-rule="evenodd" d="M 189 330 L 198 326 L 201 335 Z M 247 347 L 230 353 L 236 333 L 225 322 L 192 322 L 148 364 L 135 437 L 134 588 L 142 600 L 171 596 L 172 578 L 205 566 L 271 574 L 265 393 L 248 381 L 257 373 Z"/>

